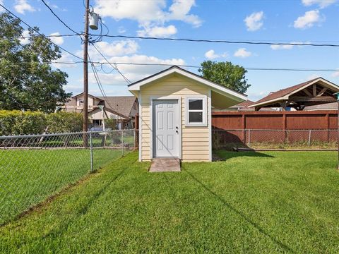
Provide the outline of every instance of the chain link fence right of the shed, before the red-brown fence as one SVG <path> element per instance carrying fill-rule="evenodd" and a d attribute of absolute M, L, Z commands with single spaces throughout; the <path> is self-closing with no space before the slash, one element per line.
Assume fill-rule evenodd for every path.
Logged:
<path fill-rule="evenodd" d="M 336 149 L 337 130 L 213 130 L 214 149 Z"/>

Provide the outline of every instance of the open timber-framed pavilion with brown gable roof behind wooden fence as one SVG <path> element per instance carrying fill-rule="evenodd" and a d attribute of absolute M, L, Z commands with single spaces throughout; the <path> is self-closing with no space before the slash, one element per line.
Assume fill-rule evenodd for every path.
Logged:
<path fill-rule="evenodd" d="M 336 97 L 333 95 L 335 92 L 339 92 L 338 85 L 324 78 L 314 78 L 277 92 L 270 92 L 249 107 L 253 107 L 256 111 L 264 107 L 304 110 L 305 107 L 336 102 Z"/>

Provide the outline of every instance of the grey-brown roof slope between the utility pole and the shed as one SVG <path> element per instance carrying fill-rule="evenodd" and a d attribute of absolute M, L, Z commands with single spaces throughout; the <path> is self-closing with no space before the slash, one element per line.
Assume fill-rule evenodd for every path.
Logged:
<path fill-rule="evenodd" d="M 124 116 L 129 116 L 133 104 L 136 101 L 135 96 L 107 96 L 98 98 L 105 101 L 106 108 L 116 111 Z M 102 102 L 99 104 L 102 104 Z"/>

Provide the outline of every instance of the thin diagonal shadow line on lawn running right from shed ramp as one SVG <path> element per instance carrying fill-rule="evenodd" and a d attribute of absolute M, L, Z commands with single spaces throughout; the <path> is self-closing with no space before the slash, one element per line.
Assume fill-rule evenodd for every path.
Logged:
<path fill-rule="evenodd" d="M 249 224 L 251 224 L 252 226 L 254 226 L 261 234 L 264 234 L 265 236 L 268 236 L 268 238 L 270 238 L 270 240 L 272 240 L 273 242 L 275 242 L 278 246 L 280 246 L 280 248 L 283 248 L 283 250 L 285 251 L 289 251 L 294 253 L 295 251 L 292 250 L 289 246 L 287 246 L 285 243 L 282 243 L 281 241 L 279 241 L 278 239 L 274 238 L 273 236 L 271 236 L 270 234 L 268 234 L 268 232 L 266 232 L 258 223 L 254 222 L 253 220 L 251 220 L 249 217 L 246 216 L 246 214 L 244 214 L 243 212 L 237 210 L 236 208 L 234 208 L 229 202 L 227 202 L 224 198 L 220 197 L 217 193 L 215 193 L 214 191 L 210 190 L 210 188 L 208 188 L 205 184 L 203 184 L 201 181 L 199 181 L 193 174 L 189 173 L 189 171 L 186 171 L 187 174 L 189 174 L 189 176 L 191 176 L 192 179 L 194 179 L 194 181 L 196 181 L 197 183 L 199 183 L 206 191 L 208 191 L 208 193 L 212 194 L 217 200 L 219 200 L 220 202 L 222 202 L 222 204 L 224 204 L 227 208 L 229 208 L 232 212 L 234 212 L 235 214 L 239 215 L 240 217 L 242 217 L 246 222 L 248 222 Z"/>

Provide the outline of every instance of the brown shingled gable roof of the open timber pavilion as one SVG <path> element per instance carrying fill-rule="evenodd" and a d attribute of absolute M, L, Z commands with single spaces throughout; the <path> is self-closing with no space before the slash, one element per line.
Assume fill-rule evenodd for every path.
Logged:
<path fill-rule="evenodd" d="M 254 104 L 251 104 L 249 107 L 260 107 L 260 106 L 266 106 L 267 104 L 272 104 L 274 102 L 279 102 L 281 100 L 286 100 L 290 95 L 295 94 L 296 92 L 299 92 L 300 90 L 304 89 L 305 87 L 308 87 L 309 85 L 312 85 L 314 83 L 317 83 L 321 81 L 321 83 L 326 84 L 326 86 L 332 87 L 333 91 L 338 91 L 339 87 L 335 85 L 334 83 L 331 83 L 330 81 L 324 79 L 324 78 L 314 78 L 311 80 L 308 80 L 304 83 L 300 83 L 297 85 L 293 85 L 291 87 L 287 87 L 282 90 L 278 90 L 276 92 L 270 92 L 269 95 L 266 97 L 263 97 L 262 99 L 259 99 L 258 101 L 254 102 Z"/>

